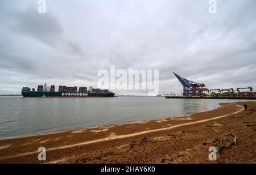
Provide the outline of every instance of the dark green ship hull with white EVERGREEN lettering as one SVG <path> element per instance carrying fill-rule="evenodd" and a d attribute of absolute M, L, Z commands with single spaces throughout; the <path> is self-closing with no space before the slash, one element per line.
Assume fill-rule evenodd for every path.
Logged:
<path fill-rule="evenodd" d="M 114 97 L 113 92 L 23 92 L 23 97 Z"/>

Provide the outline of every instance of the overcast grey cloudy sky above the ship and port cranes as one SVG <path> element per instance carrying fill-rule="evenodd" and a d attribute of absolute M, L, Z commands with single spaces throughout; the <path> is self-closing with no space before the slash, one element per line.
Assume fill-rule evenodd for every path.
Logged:
<path fill-rule="evenodd" d="M 217 0 L 216 14 L 208 2 L 46 0 L 39 14 L 36 0 L 2 0 L 0 94 L 97 86 L 110 65 L 158 69 L 160 92 L 182 90 L 172 72 L 208 88 L 255 89 L 256 2 Z"/>

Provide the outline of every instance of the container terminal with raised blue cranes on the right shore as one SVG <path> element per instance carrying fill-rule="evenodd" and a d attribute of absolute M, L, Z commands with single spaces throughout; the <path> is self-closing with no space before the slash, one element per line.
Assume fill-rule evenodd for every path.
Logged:
<path fill-rule="evenodd" d="M 252 87 L 239 87 L 234 88 L 218 88 L 208 89 L 205 88 L 204 83 L 193 82 L 182 78 L 175 74 L 176 78 L 183 86 L 183 92 L 181 95 L 171 94 L 165 95 L 166 99 L 245 99 L 256 100 L 256 92 Z"/>

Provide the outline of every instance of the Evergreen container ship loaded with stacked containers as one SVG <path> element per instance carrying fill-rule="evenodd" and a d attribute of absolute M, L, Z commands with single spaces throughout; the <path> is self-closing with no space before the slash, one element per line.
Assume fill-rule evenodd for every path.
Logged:
<path fill-rule="evenodd" d="M 39 85 L 37 91 L 35 88 L 23 87 L 23 97 L 114 97 L 115 93 L 109 89 L 99 89 L 89 87 L 80 87 L 77 91 L 77 86 L 67 87 L 59 86 L 59 90 L 55 91 L 55 86 L 47 87 L 47 84 Z"/>

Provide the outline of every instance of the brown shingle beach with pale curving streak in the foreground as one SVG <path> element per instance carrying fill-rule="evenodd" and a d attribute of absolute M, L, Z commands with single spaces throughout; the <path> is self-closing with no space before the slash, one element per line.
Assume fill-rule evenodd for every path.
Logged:
<path fill-rule="evenodd" d="M 0 140 L 0 163 L 256 163 L 256 102 L 221 104 L 191 116 Z M 209 161 L 229 133 L 237 143 Z M 224 143 L 223 143 L 224 144 Z M 38 148 L 46 148 L 46 161 Z"/>

